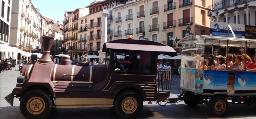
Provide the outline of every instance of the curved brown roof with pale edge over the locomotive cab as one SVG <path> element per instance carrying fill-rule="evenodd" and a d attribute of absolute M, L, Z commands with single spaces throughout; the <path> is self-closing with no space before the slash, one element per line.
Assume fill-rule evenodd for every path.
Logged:
<path fill-rule="evenodd" d="M 106 42 L 102 52 L 106 49 L 152 51 L 152 52 L 176 52 L 172 47 L 150 40 L 118 39 Z"/>

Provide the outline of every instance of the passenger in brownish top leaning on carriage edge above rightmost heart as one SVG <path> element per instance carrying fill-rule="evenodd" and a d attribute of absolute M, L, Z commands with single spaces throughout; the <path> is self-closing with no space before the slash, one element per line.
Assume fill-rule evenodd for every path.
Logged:
<path fill-rule="evenodd" d="M 243 57 L 241 55 L 237 55 L 236 57 L 236 63 L 233 65 L 228 66 L 228 70 L 231 71 L 243 71 L 244 70 L 244 64 L 242 63 Z"/>

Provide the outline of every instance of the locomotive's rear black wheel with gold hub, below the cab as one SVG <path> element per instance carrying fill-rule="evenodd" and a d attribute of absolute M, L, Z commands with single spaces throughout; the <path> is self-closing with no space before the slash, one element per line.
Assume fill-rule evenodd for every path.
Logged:
<path fill-rule="evenodd" d="M 138 92 L 128 90 L 118 95 L 114 107 L 119 117 L 123 119 L 135 118 L 142 111 L 143 100 Z"/>

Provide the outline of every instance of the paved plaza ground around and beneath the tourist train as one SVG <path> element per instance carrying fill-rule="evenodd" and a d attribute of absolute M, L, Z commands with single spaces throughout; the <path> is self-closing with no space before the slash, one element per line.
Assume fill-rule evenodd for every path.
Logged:
<path fill-rule="evenodd" d="M 18 70 L 18 68 L 16 67 Z M 16 85 L 16 78 L 19 71 L 7 71 L 0 73 L 0 119 L 24 119 L 19 111 L 19 101 L 14 99 L 14 106 L 10 106 L 4 100 L 4 97 L 11 93 Z M 179 77 L 173 75 L 172 92 L 170 97 L 176 97 L 180 94 Z M 256 105 L 230 105 L 228 114 L 223 118 L 241 118 L 241 119 L 255 119 Z M 73 109 L 56 109 L 54 113 L 49 116 L 49 119 L 118 119 L 114 112 L 114 108 L 73 108 Z M 141 116 L 138 118 L 152 118 L 152 119 L 218 119 L 213 118 L 208 113 L 207 105 L 198 105 L 196 107 L 189 107 L 184 102 L 178 104 L 167 104 L 161 107 L 155 102 L 148 105 L 144 102 L 144 107 Z"/>

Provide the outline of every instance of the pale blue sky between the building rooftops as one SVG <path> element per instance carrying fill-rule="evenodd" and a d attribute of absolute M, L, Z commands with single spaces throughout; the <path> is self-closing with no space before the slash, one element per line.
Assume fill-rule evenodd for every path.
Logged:
<path fill-rule="evenodd" d="M 42 16 L 52 19 L 55 23 L 64 20 L 65 11 L 88 6 L 95 0 L 32 0 Z"/>

